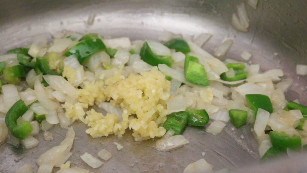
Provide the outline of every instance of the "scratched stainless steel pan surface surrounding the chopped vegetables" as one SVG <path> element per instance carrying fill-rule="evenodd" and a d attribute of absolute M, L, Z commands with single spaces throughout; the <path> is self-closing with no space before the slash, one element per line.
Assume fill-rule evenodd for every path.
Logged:
<path fill-rule="evenodd" d="M 241 1 L 0 1 L 0 53 L 4 54 L 6 50 L 16 46 L 28 45 L 36 34 L 46 34 L 51 38 L 59 30 L 97 32 L 111 37 L 129 36 L 132 40 L 157 39 L 163 30 L 189 35 L 208 32 L 213 37 L 205 44 L 205 50 L 212 53 L 224 38 L 233 38 L 234 44 L 225 58 L 239 59 L 241 52 L 247 50 L 254 55 L 252 63 L 260 64 L 261 70 L 282 68 L 285 75 L 294 80 L 287 98 L 299 99 L 306 104 L 306 91 L 303 89 L 307 84 L 306 77 L 297 78 L 295 75 L 295 65 L 307 63 L 306 1 L 260 0 L 257 10 L 247 6 L 251 19 L 248 33 L 238 33 L 229 24 L 235 5 L 239 2 Z M 85 23 L 90 14 L 96 14 L 95 22 L 92 26 L 87 26 Z M 233 126 L 228 123 L 217 136 L 205 133 L 204 128 L 188 127 L 183 135 L 190 143 L 170 152 L 156 151 L 152 140 L 134 142 L 129 131 L 121 139 L 113 135 L 93 139 L 86 135 L 85 125 L 76 123 L 73 127 L 77 139 L 69 160 L 72 161 L 72 166 L 93 172 L 182 172 L 189 163 L 201 158 L 214 165 L 214 170 L 251 166 L 253 168 L 244 171 L 257 172 L 266 168 L 273 172 L 277 168 L 274 165 L 252 166 L 258 163 L 258 146 L 251 135 L 250 126 L 233 131 Z M 53 141 L 46 142 L 42 139 L 42 134 L 37 135 L 35 137 L 40 141 L 39 146 L 29 150 L 9 144 L 1 145 L 0 172 L 14 172 L 25 163 L 37 170 L 37 157 L 59 144 L 66 132 L 58 126 L 50 131 L 55 138 Z M 241 135 L 244 139 L 241 139 Z M 117 151 L 113 142 L 121 143 L 124 148 Z M 103 148 L 110 151 L 113 157 L 99 169 L 91 169 L 80 159 L 84 152 L 97 156 L 97 152 Z M 203 151 L 205 156 L 201 155 Z M 297 160 L 287 163 L 299 163 Z M 276 163 L 278 168 L 285 165 L 282 163 Z M 287 168 L 291 169 L 291 166 Z M 285 172 L 287 169 L 281 170 Z M 298 172 L 293 169 L 291 171 Z"/>

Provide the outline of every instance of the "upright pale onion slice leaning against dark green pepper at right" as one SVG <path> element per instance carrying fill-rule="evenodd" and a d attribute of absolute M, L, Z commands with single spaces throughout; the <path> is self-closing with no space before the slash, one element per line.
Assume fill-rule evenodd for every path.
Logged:
<path fill-rule="evenodd" d="M 266 124 L 268 123 L 270 113 L 266 110 L 258 108 L 256 120 L 254 124 L 254 131 L 257 136 L 261 136 L 264 134 L 264 130 L 266 128 Z"/>

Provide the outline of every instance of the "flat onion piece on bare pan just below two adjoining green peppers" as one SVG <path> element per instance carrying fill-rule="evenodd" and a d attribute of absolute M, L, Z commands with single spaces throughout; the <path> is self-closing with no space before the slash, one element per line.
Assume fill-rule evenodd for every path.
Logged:
<path fill-rule="evenodd" d="M 156 149 L 158 151 L 175 150 L 184 144 L 190 143 L 183 135 L 175 135 L 169 138 L 162 138 L 156 142 Z"/>

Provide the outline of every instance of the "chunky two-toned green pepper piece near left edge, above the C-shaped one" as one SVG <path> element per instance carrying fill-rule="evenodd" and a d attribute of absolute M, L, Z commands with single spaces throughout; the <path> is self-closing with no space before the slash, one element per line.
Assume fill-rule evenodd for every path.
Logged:
<path fill-rule="evenodd" d="M 17 84 L 21 77 L 25 77 L 25 66 L 11 66 L 3 70 L 3 78 L 8 83 Z"/>

